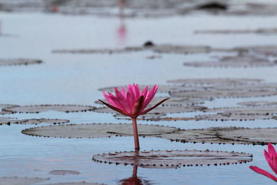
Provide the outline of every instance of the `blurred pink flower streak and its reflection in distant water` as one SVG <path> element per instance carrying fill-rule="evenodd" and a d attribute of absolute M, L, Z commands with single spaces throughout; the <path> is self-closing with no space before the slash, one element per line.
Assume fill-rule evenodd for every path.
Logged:
<path fill-rule="evenodd" d="M 120 44 L 124 44 L 126 36 L 127 36 L 127 28 L 125 26 L 125 14 L 124 14 L 124 8 L 126 5 L 126 1 L 127 0 L 118 0 L 120 24 L 117 29 L 117 37 L 118 37 Z"/>

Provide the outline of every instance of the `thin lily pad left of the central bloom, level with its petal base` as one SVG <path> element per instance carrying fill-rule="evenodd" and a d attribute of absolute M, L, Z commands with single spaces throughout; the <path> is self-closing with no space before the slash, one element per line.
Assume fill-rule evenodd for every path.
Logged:
<path fill-rule="evenodd" d="M 48 110 L 60 112 L 86 112 L 92 111 L 94 107 L 87 105 L 26 105 L 19 107 L 8 107 L 3 109 L 14 113 L 39 113 Z"/>

